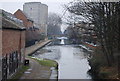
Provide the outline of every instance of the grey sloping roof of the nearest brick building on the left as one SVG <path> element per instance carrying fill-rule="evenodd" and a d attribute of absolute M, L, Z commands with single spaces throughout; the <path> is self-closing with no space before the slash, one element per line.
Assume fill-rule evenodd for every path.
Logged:
<path fill-rule="evenodd" d="M 7 18 L 7 15 L 4 14 L 5 11 L 2 10 L 0 12 L 0 23 L 2 26 L 0 26 L 0 29 L 16 29 L 16 30 L 25 30 L 25 27 L 23 25 L 20 25 L 11 19 Z M 8 12 L 5 12 L 8 13 Z M 9 13 L 8 13 L 9 14 Z"/>

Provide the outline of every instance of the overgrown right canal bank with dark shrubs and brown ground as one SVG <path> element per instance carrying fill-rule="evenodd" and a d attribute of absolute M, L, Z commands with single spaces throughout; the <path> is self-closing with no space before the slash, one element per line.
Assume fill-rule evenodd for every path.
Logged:
<path fill-rule="evenodd" d="M 101 81 L 106 79 L 108 81 L 120 81 L 118 77 L 118 63 L 114 61 L 112 66 L 108 66 L 99 45 L 83 43 L 83 45 L 80 46 L 86 51 L 91 52 L 91 58 L 88 60 L 91 69 L 88 72 L 94 81 L 98 81 L 98 79 Z"/>

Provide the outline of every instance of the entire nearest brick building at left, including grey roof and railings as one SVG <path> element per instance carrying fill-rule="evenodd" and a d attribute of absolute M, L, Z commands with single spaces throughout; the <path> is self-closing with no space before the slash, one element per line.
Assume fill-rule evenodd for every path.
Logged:
<path fill-rule="evenodd" d="M 25 27 L 12 14 L 1 10 L 0 34 L 2 34 L 2 79 L 11 77 L 21 67 L 25 59 Z"/>

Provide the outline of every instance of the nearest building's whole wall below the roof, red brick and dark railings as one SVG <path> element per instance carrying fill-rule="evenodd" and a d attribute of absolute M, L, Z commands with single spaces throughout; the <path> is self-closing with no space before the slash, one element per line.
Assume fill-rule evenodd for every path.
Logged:
<path fill-rule="evenodd" d="M 25 59 L 25 31 L 2 29 L 2 79 L 10 78 Z"/>

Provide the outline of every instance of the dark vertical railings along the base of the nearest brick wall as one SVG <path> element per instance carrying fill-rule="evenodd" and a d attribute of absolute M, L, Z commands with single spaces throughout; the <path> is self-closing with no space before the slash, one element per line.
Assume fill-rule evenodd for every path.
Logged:
<path fill-rule="evenodd" d="M 2 80 L 6 81 L 9 76 L 12 76 L 19 65 L 21 64 L 21 55 L 18 52 L 13 52 L 11 54 L 7 54 L 2 58 Z"/>

